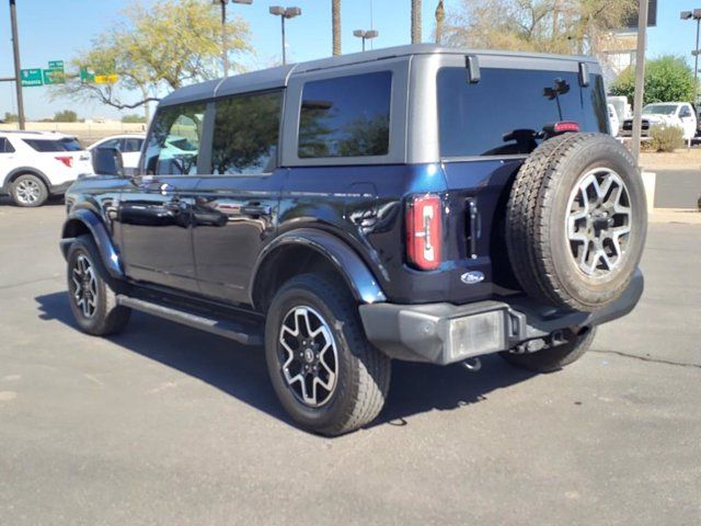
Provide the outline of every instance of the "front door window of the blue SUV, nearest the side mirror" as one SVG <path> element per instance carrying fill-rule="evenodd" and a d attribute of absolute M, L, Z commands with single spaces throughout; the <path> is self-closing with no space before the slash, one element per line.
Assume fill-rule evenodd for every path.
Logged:
<path fill-rule="evenodd" d="M 183 104 L 159 110 L 146 149 L 146 173 L 196 174 L 204 118 L 205 104 Z"/>

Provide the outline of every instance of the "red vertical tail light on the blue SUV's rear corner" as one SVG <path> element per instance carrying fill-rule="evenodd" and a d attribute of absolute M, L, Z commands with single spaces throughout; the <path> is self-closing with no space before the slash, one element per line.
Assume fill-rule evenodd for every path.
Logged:
<path fill-rule="evenodd" d="M 411 197 L 406 207 L 406 256 L 422 271 L 434 271 L 441 260 L 441 205 L 437 195 Z"/>

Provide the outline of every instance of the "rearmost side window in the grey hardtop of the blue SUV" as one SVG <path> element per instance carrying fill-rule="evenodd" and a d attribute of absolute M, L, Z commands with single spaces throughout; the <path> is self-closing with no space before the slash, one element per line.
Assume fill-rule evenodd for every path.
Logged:
<path fill-rule="evenodd" d="M 306 83 L 299 157 L 387 155 L 391 94 L 390 71 Z"/>

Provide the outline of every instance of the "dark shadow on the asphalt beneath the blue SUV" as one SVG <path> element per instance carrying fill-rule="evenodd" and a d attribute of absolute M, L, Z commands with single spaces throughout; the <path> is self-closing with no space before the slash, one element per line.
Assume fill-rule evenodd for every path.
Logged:
<path fill-rule="evenodd" d="M 35 298 L 39 319 L 57 320 L 76 330 L 65 293 Z M 85 336 L 87 339 L 90 336 Z M 135 312 L 126 331 L 110 340 L 141 356 L 196 377 L 290 425 L 271 386 L 261 347 L 245 347 L 220 336 Z M 394 362 L 390 392 L 380 416 L 370 425 L 407 425 L 415 414 L 456 410 L 486 399 L 492 391 L 530 378 L 497 356 L 483 358 L 478 373 L 459 365 L 439 367 Z"/>

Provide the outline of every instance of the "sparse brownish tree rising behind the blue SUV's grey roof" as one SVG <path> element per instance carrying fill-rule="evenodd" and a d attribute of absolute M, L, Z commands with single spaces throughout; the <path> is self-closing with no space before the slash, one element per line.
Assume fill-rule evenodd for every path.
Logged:
<path fill-rule="evenodd" d="M 461 0 L 449 10 L 452 46 L 595 55 L 636 0 Z"/>

